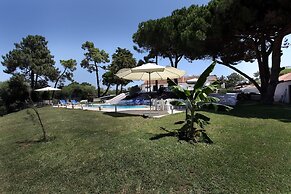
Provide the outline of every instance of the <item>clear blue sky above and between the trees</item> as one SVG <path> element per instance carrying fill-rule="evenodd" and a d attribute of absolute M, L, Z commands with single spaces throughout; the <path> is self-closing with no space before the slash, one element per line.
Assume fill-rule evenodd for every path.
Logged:
<path fill-rule="evenodd" d="M 168 16 L 175 9 L 191 4 L 207 4 L 208 0 L 0 0 L 0 55 L 5 55 L 27 35 L 42 35 L 49 42 L 48 47 L 59 66 L 61 59 L 76 59 L 78 68 L 75 80 L 95 85 L 96 78 L 80 67 L 85 41 L 110 54 L 117 47 L 132 51 L 138 60 L 143 56 L 133 50 L 132 34 L 138 24 L 149 19 Z M 290 49 L 284 50 L 283 66 L 288 66 Z M 2 58 L 1 58 L 2 61 Z M 169 65 L 160 60 L 160 65 Z M 188 75 L 199 75 L 210 61 L 183 60 L 179 68 Z M 257 64 L 239 65 L 249 75 L 257 71 Z M 3 73 L 0 65 L 0 81 L 9 75 Z M 214 74 L 229 75 L 232 71 L 217 66 Z"/>

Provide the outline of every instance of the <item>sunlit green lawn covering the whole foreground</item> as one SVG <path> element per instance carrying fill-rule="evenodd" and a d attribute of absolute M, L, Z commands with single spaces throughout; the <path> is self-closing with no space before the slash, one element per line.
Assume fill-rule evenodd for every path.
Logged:
<path fill-rule="evenodd" d="M 214 144 L 175 137 L 184 114 L 144 119 L 39 109 L 50 141 L 27 110 L 0 117 L 0 193 L 291 192 L 291 107 L 241 106 L 212 118 Z"/>

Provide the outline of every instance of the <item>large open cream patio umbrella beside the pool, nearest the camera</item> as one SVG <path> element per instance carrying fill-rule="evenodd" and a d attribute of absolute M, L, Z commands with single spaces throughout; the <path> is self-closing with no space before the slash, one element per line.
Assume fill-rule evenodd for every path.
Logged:
<path fill-rule="evenodd" d="M 185 71 L 170 66 L 160 66 L 155 63 L 146 63 L 144 65 L 125 68 L 117 72 L 116 76 L 127 80 L 148 80 L 151 92 L 151 80 L 165 80 L 167 78 L 175 79 L 185 75 Z M 150 101 L 150 111 L 151 111 Z"/>

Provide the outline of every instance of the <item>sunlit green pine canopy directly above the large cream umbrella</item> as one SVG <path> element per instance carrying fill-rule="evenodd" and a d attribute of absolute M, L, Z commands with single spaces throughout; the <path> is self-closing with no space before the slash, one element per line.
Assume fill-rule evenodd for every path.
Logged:
<path fill-rule="evenodd" d="M 171 66 L 177 68 L 185 56 L 185 44 L 195 46 L 198 42 L 196 40 L 205 39 L 204 30 L 208 24 L 203 17 L 196 17 L 196 12 L 207 13 L 198 6 L 191 6 L 189 9 L 176 10 L 168 17 L 142 22 L 133 35 L 133 41 L 143 50 L 150 52 L 150 56 L 168 58 Z M 185 17 L 186 15 L 189 17 Z M 191 50 L 193 51 L 195 50 Z"/>

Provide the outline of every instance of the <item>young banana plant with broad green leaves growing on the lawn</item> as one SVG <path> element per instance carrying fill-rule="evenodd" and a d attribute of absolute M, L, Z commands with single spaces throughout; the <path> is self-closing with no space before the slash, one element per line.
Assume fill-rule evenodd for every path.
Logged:
<path fill-rule="evenodd" d="M 185 124 L 182 128 L 178 129 L 178 137 L 181 140 L 189 142 L 205 142 L 213 143 L 213 141 L 206 134 L 205 126 L 209 124 L 210 118 L 197 113 L 197 110 L 202 108 L 213 108 L 216 111 L 230 110 L 229 106 L 219 104 L 219 99 L 209 96 L 217 88 L 217 84 L 213 83 L 208 86 L 205 85 L 207 77 L 213 71 L 215 67 L 213 62 L 199 77 L 197 83 L 193 87 L 193 90 L 187 90 L 177 85 L 174 81 L 168 79 L 168 85 L 172 91 L 184 101 L 173 101 L 172 104 L 178 106 L 186 106 L 186 118 Z"/>

